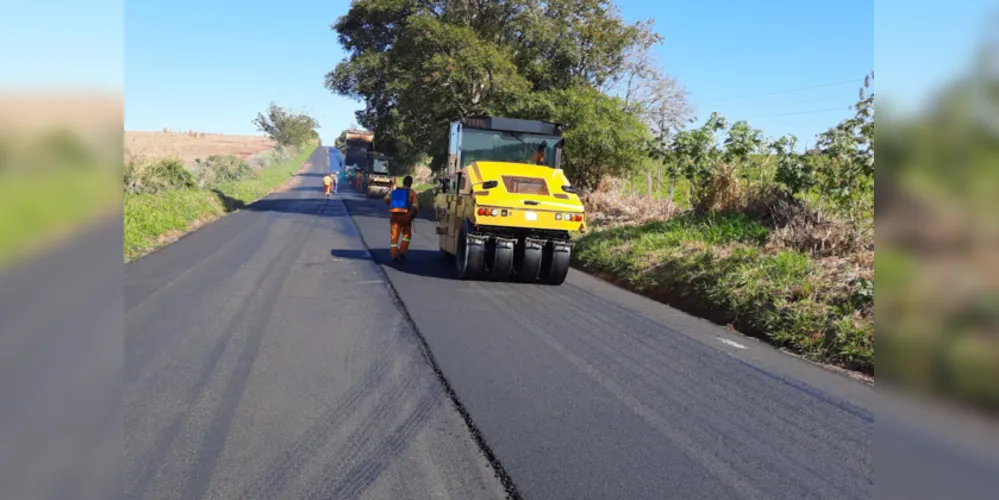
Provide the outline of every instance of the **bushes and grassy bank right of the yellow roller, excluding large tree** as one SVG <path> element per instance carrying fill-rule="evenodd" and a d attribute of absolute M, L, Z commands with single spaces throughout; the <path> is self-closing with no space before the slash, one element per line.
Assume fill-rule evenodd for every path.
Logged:
<path fill-rule="evenodd" d="M 719 114 L 675 133 L 651 148 L 651 195 L 591 194 L 592 230 L 578 239 L 576 265 L 810 359 L 873 373 L 870 84 L 856 115 L 802 153 L 795 137 L 766 140 Z"/>

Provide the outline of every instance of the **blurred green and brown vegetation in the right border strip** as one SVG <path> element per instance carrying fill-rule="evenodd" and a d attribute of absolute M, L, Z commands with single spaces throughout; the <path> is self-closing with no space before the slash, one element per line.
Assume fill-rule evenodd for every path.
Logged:
<path fill-rule="evenodd" d="M 997 109 L 999 80 L 989 61 L 917 115 L 878 110 L 878 374 L 999 412 L 999 130 L 982 112 Z"/>

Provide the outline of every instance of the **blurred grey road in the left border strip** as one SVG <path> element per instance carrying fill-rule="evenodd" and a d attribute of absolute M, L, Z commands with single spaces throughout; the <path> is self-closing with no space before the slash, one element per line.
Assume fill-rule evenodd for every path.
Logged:
<path fill-rule="evenodd" d="M 4 499 L 121 495 L 121 216 L 0 272 Z"/>

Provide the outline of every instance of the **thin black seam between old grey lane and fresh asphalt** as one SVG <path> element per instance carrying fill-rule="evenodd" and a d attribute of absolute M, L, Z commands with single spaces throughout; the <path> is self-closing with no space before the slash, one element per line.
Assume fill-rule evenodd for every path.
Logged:
<path fill-rule="evenodd" d="M 461 400 L 458 399 L 458 394 L 454 391 L 454 388 L 451 386 L 451 382 L 448 380 L 447 376 L 444 375 L 444 371 L 441 370 L 440 365 L 437 363 L 437 359 L 434 357 L 434 353 L 430 350 L 430 344 L 423 336 L 423 333 L 420 332 L 420 328 L 416 326 L 416 321 L 414 321 L 412 315 L 409 314 L 409 308 L 406 307 L 406 303 L 403 302 L 402 298 L 399 296 L 399 291 L 396 290 L 395 284 L 392 283 L 392 279 L 389 278 L 388 273 L 385 272 L 384 266 L 374 259 L 374 254 L 371 253 L 371 246 L 369 246 L 368 242 L 364 240 L 364 233 L 361 232 L 360 226 L 358 226 L 357 221 L 354 220 L 354 214 L 350 213 L 350 209 L 347 207 L 347 202 L 343 199 L 341 199 L 340 202 L 343 203 L 343 206 L 346 209 L 347 218 L 350 219 L 350 223 L 354 226 L 357 234 L 361 237 L 361 243 L 364 243 L 365 248 L 368 249 L 368 253 L 371 254 L 372 263 L 375 264 L 375 267 L 378 268 L 378 273 L 381 274 L 382 278 L 384 278 L 385 284 L 389 289 L 389 295 L 392 297 L 392 303 L 399 308 L 403 319 L 406 320 L 409 328 L 413 330 L 416 340 L 420 345 L 420 351 L 423 353 L 423 357 L 427 360 L 427 364 L 429 364 L 430 368 L 434 371 L 434 374 L 437 376 L 437 380 L 444 386 L 444 392 L 447 394 L 448 399 L 451 400 L 451 404 L 454 405 L 458 414 L 461 416 L 461 420 L 465 423 L 465 428 L 472 435 L 472 440 L 479 448 L 479 452 L 482 453 L 482 455 L 486 458 L 486 462 L 488 462 L 489 466 L 492 467 L 493 474 L 496 476 L 496 479 L 499 479 L 500 485 L 503 486 L 503 490 L 506 492 L 507 498 L 509 500 L 523 500 L 523 496 L 517 489 L 517 485 L 514 484 L 513 478 L 510 477 L 510 473 L 507 472 L 503 467 L 503 464 L 500 463 L 499 457 L 497 457 L 493 452 L 489 443 L 486 442 L 485 437 L 482 435 L 482 432 L 472 420 L 472 415 L 468 412 L 468 409 L 461 404 Z"/>

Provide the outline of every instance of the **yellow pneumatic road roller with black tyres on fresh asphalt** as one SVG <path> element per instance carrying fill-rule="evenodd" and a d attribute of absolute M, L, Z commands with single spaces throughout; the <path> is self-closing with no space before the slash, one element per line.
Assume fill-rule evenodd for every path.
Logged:
<path fill-rule="evenodd" d="M 561 285 L 586 214 L 561 168 L 564 126 L 473 116 L 450 124 L 435 188 L 441 253 L 461 279 Z"/>

